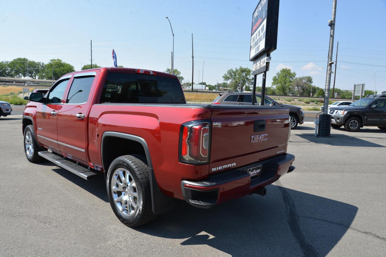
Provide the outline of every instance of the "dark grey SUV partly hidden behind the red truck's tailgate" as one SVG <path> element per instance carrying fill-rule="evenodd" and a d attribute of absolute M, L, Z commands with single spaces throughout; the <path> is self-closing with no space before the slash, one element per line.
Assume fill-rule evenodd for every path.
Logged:
<path fill-rule="evenodd" d="M 256 104 L 259 105 L 261 102 L 261 94 L 256 94 Z M 294 129 L 298 124 L 304 123 L 304 113 L 303 109 L 297 106 L 289 104 L 280 104 L 275 102 L 268 96 L 264 97 L 265 105 L 268 106 L 286 106 L 289 108 L 289 116 L 291 117 L 291 129 Z M 241 92 L 232 92 L 232 93 L 220 93 L 216 99 L 213 100 L 212 104 L 240 104 L 240 105 L 250 105 L 252 104 L 252 93 L 241 93 Z"/>

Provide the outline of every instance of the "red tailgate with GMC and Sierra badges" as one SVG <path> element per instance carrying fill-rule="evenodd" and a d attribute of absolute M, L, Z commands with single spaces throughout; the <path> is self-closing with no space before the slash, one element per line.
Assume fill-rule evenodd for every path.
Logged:
<path fill-rule="evenodd" d="M 212 108 L 209 173 L 244 166 L 286 152 L 291 130 L 288 107 Z"/>

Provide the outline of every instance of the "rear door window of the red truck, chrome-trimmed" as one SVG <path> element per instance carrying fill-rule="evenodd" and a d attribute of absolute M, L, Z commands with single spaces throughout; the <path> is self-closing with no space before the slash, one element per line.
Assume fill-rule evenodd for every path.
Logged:
<path fill-rule="evenodd" d="M 68 104 L 82 104 L 87 102 L 90 89 L 95 77 L 74 77 L 71 84 L 70 91 L 68 92 L 67 101 Z"/>

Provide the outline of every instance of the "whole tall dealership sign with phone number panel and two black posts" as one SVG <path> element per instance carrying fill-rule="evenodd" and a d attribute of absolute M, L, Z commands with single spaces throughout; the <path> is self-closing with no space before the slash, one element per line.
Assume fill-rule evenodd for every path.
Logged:
<path fill-rule="evenodd" d="M 257 75 L 263 74 L 261 102 L 264 105 L 266 74 L 269 71 L 271 52 L 276 50 L 278 42 L 279 0 L 260 0 L 252 13 L 251 49 L 249 60 L 253 61 L 253 96 L 256 101 Z"/>

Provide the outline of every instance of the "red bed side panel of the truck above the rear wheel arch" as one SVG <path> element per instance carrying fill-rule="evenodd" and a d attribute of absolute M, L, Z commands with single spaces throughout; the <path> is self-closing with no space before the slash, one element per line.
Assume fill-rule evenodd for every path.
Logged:
<path fill-rule="evenodd" d="M 143 138 L 157 183 L 165 195 L 183 199 L 180 182 L 208 176 L 208 165 L 187 165 L 178 161 L 179 131 L 182 123 L 210 119 L 210 108 L 161 107 L 152 104 L 94 104 L 88 127 L 88 151 L 94 165 L 102 167 L 101 139 L 106 131 Z M 93 130 L 99 139 L 93 139 Z"/>

